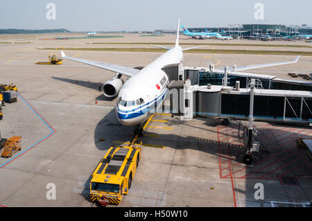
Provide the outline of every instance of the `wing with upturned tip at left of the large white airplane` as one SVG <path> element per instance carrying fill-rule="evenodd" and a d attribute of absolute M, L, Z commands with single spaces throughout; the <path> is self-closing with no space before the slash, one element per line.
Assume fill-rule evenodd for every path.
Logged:
<path fill-rule="evenodd" d="M 71 57 L 66 56 L 64 51 L 61 51 L 61 53 L 62 53 L 62 58 L 74 60 L 76 62 L 81 62 L 84 64 L 89 64 L 89 65 L 92 65 L 95 67 L 99 67 L 101 69 L 105 69 L 107 71 L 113 71 L 116 73 L 121 73 L 122 75 L 128 76 L 128 77 L 132 77 L 140 71 L 138 69 L 132 69 L 130 67 L 124 67 L 124 66 L 117 65 L 117 64 L 108 64 L 108 63 L 104 63 L 104 62 L 94 62 L 94 61 L 80 59 L 80 58 L 71 58 Z"/>

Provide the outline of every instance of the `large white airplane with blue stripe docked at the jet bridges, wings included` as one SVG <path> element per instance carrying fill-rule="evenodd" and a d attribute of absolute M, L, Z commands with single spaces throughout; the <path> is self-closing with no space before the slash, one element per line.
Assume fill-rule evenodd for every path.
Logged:
<path fill-rule="evenodd" d="M 143 134 L 143 123 L 148 119 L 151 110 L 155 107 L 162 107 L 162 101 L 168 93 L 167 85 L 169 82 L 166 73 L 166 67 L 177 67 L 183 63 L 183 51 L 193 48 L 204 47 L 207 45 L 191 48 L 181 48 L 179 46 L 180 19 L 177 25 L 177 37 L 173 48 L 165 48 L 168 51 L 159 58 L 148 64 L 143 69 L 133 69 L 123 67 L 117 64 L 107 64 L 103 62 L 94 62 L 80 58 L 71 58 L 65 55 L 63 51 L 62 58 L 82 62 L 95 67 L 116 72 L 116 76 L 105 82 L 102 86 L 103 94 L 108 98 L 114 98 L 118 95 L 116 102 L 116 117 L 123 125 L 137 125 L 135 134 Z M 293 61 L 292 61 L 293 62 Z M 274 65 L 288 64 L 292 62 L 279 62 Z M 248 69 L 259 67 L 270 67 L 272 64 L 256 64 L 248 66 Z M 240 69 L 241 68 L 241 69 Z M 237 70 L 246 69 L 246 66 L 237 67 Z M 130 77 L 124 84 L 121 75 Z"/>

